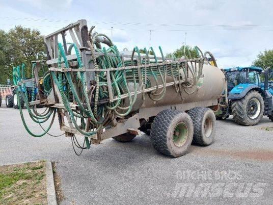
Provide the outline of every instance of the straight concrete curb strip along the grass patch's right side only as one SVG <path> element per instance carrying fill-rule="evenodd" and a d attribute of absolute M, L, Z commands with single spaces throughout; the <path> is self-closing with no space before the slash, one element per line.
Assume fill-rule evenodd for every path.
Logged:
<path fill-rule="evenodd" d="M 57 205 L 51 160 L 46 160 L 46 185 L 47 204 Z"/>

